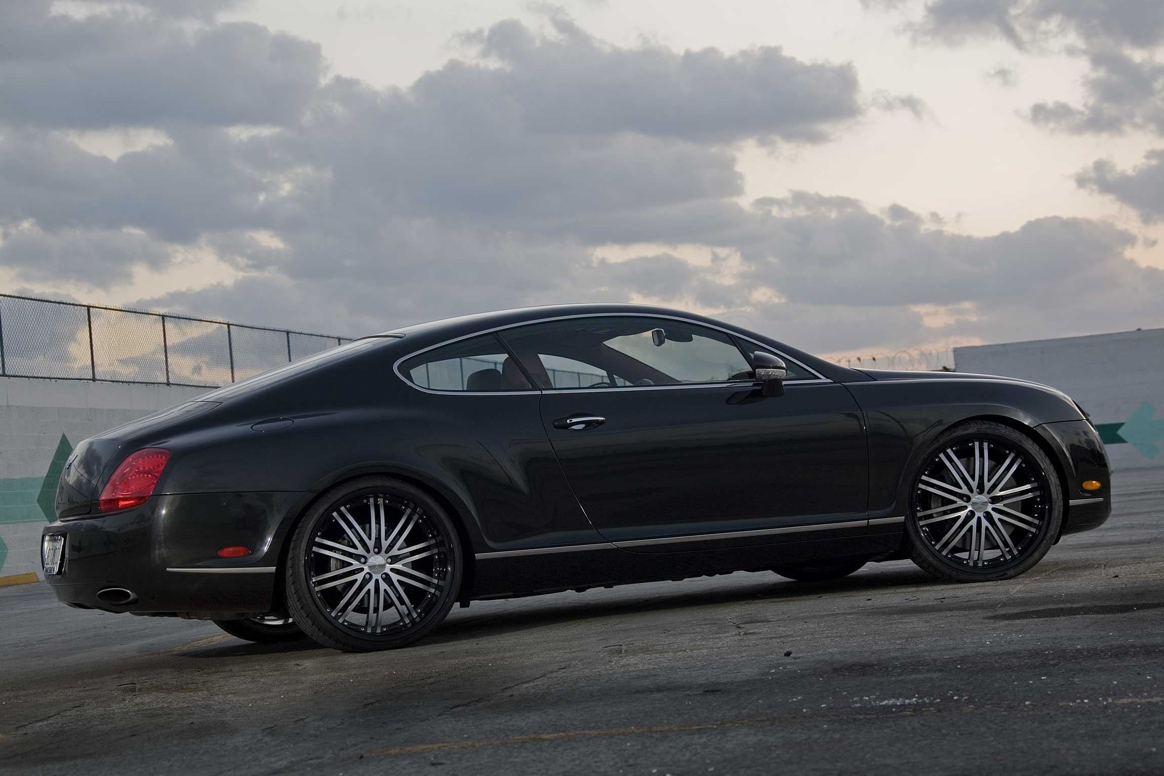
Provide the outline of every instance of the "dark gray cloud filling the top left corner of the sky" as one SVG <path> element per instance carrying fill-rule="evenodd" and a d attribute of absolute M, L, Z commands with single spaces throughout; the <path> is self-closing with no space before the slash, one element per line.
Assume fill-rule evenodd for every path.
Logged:
<path fill-rule="evenodd" d="M 2 120 L 79 128 L 286 123 L 324 74 L 315 43 L 246 22 L 190 28 L 172 19 L 193 2 L 141 5 L 143 13 L 114 6 L 84 19 L 55 13 L 48 0 L 6 7 Z"/>

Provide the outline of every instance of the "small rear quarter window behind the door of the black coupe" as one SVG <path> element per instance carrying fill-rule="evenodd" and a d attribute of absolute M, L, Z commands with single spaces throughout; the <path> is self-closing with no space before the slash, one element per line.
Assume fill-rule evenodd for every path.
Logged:
<path fill-rule="evenodd" d="M 528 391 L 530 382 L 492 334 L 409 358 L 404 375 L 432 391 Z"/>

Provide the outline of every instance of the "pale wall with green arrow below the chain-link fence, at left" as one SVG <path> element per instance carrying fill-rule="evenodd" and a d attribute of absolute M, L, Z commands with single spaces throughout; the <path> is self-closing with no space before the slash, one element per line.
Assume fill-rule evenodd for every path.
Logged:
<path fill-rule="evenodd" d="M 208 389 L 0 377 L 0 578 L 41 571 L 41 529 L 81 440 Z"/>

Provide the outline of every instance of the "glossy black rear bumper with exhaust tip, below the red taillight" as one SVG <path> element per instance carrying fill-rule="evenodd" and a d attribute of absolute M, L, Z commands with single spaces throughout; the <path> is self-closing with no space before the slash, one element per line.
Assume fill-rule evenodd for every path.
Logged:
<path fill-rule="evenodd" d="M 64 520 L 44 534 L 64 534 L 62 574 L 45 576 L 66 604 L 107 612 L 222 619 L 262 614 L 279 605 L 275 581 L 288 515 L 307 493 L 157 496 L 115 514 Z M 247 547 L 239 558 L 221 547 Z M 125 605 L 98 593 L 123 588 Z M 221 615 L 221 617 L 219 617 Z"/>

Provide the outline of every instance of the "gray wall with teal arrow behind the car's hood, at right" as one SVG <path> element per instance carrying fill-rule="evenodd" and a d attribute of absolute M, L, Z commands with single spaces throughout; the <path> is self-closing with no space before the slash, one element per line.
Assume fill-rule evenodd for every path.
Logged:
<path fill-rule="evenodd" d="M 1164 468 L 1164 329 L 954 348 L 959 372 L 1067 393 L 1105 437 L 1112 468 Z"/>

